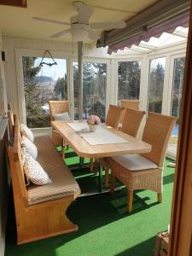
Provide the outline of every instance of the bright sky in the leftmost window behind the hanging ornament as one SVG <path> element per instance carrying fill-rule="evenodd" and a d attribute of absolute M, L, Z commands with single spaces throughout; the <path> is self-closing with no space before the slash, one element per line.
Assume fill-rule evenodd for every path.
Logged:
<path fill-rule="evenodd" d="M 36 59 L 35 67 L 40 64 L 41 60 L 42 58 Z M 67 61 L 65 59 L 55 59 L 55 61 L 57 62 L 57 65 L 53 65 L 51 67 L 44 65 L 38 73 L 38 76 L 51 77 L 55 81 L 58 78 L 63 78 L 65 73 L 67 73 Z M 53 60 L 51 58 L 44 58 L 44 62 L 52 63 Z"/>

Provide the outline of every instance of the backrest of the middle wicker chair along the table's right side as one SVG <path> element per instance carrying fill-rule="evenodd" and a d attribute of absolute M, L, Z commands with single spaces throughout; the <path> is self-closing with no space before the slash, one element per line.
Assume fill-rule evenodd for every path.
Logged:
<path fill-rule="evenodd" d="M 122 128 L 120 131 L 123 131 L 132 137 L 137 137 L 137 132 L 145 111 L 139 111 L 131 108 L 125 109 L 125 118 L 123 121 Z"/>

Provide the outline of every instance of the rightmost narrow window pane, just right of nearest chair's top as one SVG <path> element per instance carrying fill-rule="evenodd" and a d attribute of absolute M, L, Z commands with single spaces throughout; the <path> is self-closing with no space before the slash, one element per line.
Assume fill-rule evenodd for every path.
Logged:
<path fill-rule="evenodd" d="M 173 84 L 172 84 L 172 116 L 177 117 L 177 124 L 175 125 L 172 135 L 178 136 L 178 121 L 181 108 L 181 98 L 183 89 L 183 74 L 184 74 L 185 58 L 177 58 L 174 60 L 173 70 Z"/>

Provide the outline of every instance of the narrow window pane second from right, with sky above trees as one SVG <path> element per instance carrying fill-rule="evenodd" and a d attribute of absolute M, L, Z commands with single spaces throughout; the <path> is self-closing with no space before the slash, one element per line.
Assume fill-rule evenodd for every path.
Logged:
<path fill-rule="evenodd" d="M 161 113 L 166 58 L 150 61 L 148 111 Z"/>

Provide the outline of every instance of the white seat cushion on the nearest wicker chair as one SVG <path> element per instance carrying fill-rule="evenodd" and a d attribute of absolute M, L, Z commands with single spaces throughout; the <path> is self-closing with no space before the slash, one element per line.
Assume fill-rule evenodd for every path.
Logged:
<path fill-rule="evenodd" d="M 130 171 L 141 171 L 148 169 L 158 168 L 152 161 L 144 158 L 140 154 L 123 154 L 114 156 L 113 160 L 119 163 L 120 166 L 124 166 Z"/>

